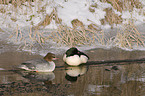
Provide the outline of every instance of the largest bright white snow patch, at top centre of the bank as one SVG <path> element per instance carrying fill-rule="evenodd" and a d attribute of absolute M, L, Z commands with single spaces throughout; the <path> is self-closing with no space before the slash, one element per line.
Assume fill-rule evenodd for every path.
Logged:
<path fill-rule="evenodd" d="M 85 25 L 89 25 L 92 22 L 101 25 L 100 19 L 104 18 L 105 12 L 102 10 L 101 3 L 99 4 L 98 9 L 95 9 L 95 13 L 91 13 L 89 11 L 90 4 L 86 0 L 69 0 L 68 2 L 61 4 L 63 7 L 58 8 L 58 15 L 63 23 L 70 27 L 72 27 L 71 21 L 73 19 L 79 19 Z M 105 4 L 105 8 L 109 5 Z"/>

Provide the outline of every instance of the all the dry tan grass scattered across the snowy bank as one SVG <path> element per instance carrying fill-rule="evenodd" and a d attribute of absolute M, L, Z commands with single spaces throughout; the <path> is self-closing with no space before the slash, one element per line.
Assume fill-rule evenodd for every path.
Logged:
<path fill-rule="evenodd" d="M 33 5 L 32 2 L 36 0 L 1 0 L 0 4 L 12 4 L 15 8 L 24 5 L 25 2 L 28 2 L 28 8 L 31 9 Z M 139 0 L 100 0 L 104 3 L 109 3 L 112 5 L 113 8 L 106 8 L 104 11 L 106 12 L 106 16 L 104 19 L 101 20 L 101 24 L 109 24 L 113 28 L 114 24 L 122 24 L 123 19 L 122 15 L 118 15 L 115 13 L 114 9 L 122 12 L 129 10 L 130 12 L 133 11 L 133 8 L 142 8 L 142 4 Z M 41 1 L 39 1 L 41 2 Z M 48 6 L 48 5 L 47 5 Z M 43 8 L 39 8 L 39 12 L 44 12 L 46 6 Z M 89 7 L 89 11 L 94 13 L 95 8 L 98 5 L 92 4 Z M 5 13 L 7 10 L 6 8 L 1 8 L 0 12 Z M 34 15 L 30 17 L 30 20 L 33 18 Z M 16 22 L 15 18 L 11 18 L 12 21 Z M 29 21 L 30 21 L 29 20 Z M 42 32 L 39 32 L 40 26 L 45 28 L 45 26 L 49 25 L 52 21 L 55 21 L 57 25 L 57 30 L 54 30 L 51 34 L 44 36 Z M 33 47 L 33 43 L 37 42 L 42 46 L 43 43 L 49 40 L 53 40 L 61 45 L 66 46 L 81 46 L 81 45 L 91 45 L 91 44 L 105 44 L 104 32 L 102 29 L 96 25 L 95 23 L 91 23 L 90 25 L 84 25 L 83 22 L 79 19 L 73 19 L 71 21 L 72 28 L 62 24 L 62 19 L 59 18 L 57 14 L 57 8 L 53 8 L 53 11 L 50 14 L 46 14 L 44 16 L 44 20 L 38 23 L 36 26 L 30 27 L 30 31 L 28 34 L 29 40 L 26 40 L 24 33 L 21 32 L 20 27 L 16 28 L 10 38 L 15 37 L 16 42 L 24 42 L 24 46 Z M 32 31 L 32 29 L 34 29 Z M 144 46 L 144 37 L 138 32 L 138 29 L 133 24 L 133 22 L 129 22 L 127 24 L 122 24 L 121 30 L 117 33 L 113 39 L 110 39 L 114 45 L 123 47 L 123 48 L 133 48 L 134 45 Z M 110 43 L 109 41 L 109 43 Z"/>

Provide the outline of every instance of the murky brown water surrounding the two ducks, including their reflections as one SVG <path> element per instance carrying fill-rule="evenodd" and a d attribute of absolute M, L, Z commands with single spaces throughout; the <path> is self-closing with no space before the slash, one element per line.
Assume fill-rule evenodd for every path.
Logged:
<path fill-rule="evenodd" d="M 97 49 L 88 51 L 88 55 L 91 61 L 121 60 L 142 58 L 144 52 Z M 11 69 L 22 61 L 41 56 L 5 52 L 0 57 L 0 68 L 5 68 L 0 71 L 2 96 L 145 96 L 145 63 L 69 67 L 60 59 L 54 72 L 38 73 Z"/>

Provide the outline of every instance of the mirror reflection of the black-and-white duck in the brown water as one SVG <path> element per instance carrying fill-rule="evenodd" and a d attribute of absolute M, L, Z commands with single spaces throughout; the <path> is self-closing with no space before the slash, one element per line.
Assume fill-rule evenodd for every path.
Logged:
<path fill-rule="evenodd" d="M 88 71 L 88 67 L 85 65 L 73 66 L 73 67 L 66 66 L 65 71 L 66 71 L 65 78 L 68 81 L 76 82 L 78 77 L 84 75 Z"/>

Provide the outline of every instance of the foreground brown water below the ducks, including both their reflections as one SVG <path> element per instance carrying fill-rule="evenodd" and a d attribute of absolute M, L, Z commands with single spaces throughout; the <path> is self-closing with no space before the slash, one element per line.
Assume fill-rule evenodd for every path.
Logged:
<path fill-rule="evenodd" d="M 144 96 L 144 63 L 117 66 L 82 66 L 54 73 L 1 71 L 4 96 Z M 88 68 L 88 69 L 87 69 Z M 76 73 L 75 73 L 76 72 Z"/>

